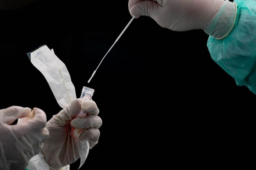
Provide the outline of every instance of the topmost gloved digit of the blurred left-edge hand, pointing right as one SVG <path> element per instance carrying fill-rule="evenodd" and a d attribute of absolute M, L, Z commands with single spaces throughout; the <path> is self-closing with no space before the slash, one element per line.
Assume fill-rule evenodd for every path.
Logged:
<path fill-rule="evenodd" d="M 0 110 L 0 121 L 10 125 L 16 119 L 24 118 L 31 112 L 31 108 L 11 106 Z"/>

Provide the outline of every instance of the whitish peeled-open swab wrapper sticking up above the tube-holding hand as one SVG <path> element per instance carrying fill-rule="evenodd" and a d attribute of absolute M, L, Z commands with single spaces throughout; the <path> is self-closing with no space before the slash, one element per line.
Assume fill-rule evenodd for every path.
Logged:
<path fill-rule="evenodd" d="M 77 99 L 75 87 L 65 64 L 46 45 L 28 53 L 31 63 L 46 78 L 58 104 L 66 108 Z"/>

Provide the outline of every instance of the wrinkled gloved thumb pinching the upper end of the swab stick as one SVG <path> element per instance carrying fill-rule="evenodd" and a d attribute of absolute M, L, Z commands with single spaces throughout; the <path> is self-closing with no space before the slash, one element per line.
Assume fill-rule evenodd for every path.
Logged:
<path fill-rule="evenodd" d="M 132 16 L 150 16 L 154 18 L 154 15 L 159 11 L 162 6 L 159 5 L 156 1 L 151 0 L 144 0 L 139 1 L 138 3 L 134 4 L 130 10 L 130 14 Z"/>

